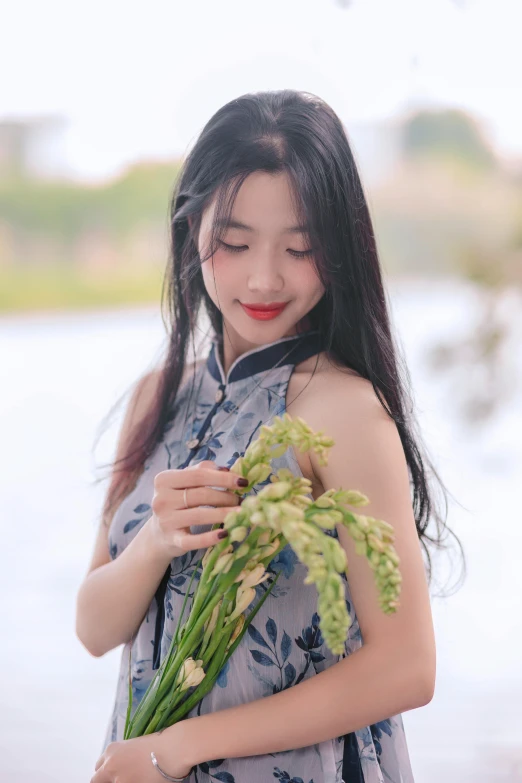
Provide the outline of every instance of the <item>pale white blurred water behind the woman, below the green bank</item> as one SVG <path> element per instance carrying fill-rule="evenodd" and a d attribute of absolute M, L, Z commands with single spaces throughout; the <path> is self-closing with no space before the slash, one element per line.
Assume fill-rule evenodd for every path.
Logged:
<path fill-rule="evenodd" d="M 425 441 L 463 506 L 451 506 L 449 524 L 469 569 L 458 593 L 433 598 L 435 697 L 403 714 L 416 781 L 522 781 L 522 323 L 506 350 L 511 401 L 467 427 L 453 404 L 462 375 L 433 373 L 425 359 L 439 336 L 466 328 L 476 296 L 403 281 L 391 302 Z M 9 783 L 86 783 L 94 772 L 121 648 L 86 652 L 75 601 L 106 487 L 93 485 L 94 468 L 113 456 L 123 408 L 92 447 L 163 341 L 156 308 L 0 319 L 0 777 Z"/>

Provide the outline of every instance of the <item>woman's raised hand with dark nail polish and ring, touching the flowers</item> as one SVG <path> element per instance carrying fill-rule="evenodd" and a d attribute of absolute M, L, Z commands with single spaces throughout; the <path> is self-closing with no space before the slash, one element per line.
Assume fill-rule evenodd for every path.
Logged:
<path fill-rule="evenodd" d="M 191 533 L 190 527 L 223 522 L 231 508 L 239 506 L 240 498 L 234 490 L 240 490 L 245 483 L 248 485 L 246 479 L 219 468 L 212 460 L 157 473 L 151 504 L 153 515 L 147 521 L 157 548 L 173 559 L 193 549 L 217 544 L 220 538 L 224 538 L 222 530 Z M 188 508 L 185 507 L 185 498 Z"/>

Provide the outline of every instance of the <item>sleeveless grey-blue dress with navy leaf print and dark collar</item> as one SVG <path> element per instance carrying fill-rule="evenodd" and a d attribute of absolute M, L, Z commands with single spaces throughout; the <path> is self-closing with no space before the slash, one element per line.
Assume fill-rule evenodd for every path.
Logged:
<path fill-rule="evenodd" d="M 144 464 L 133 491 L 118 506 L 109 530 L 111 558 L 118 557 L 150 517 L 154 476 L 202 460 L 230 467 L 256 438 L 262 424 L 285 412 L 286 391 L 294 367 L 322 350 L 318 330 L 282 337 L 240 356 L 225 375 L 221 338 L 214 337 L 206 360 L 181 386 L 161 442 Z M 192 388 L 192 395 L 191 395 Z M 194 396 L 196 395 L 196 399 Z M 293 449 L 272 462 L 302 476 Z M 268 483 L 269 479 L 266 480 Z M 259 491 L 261 485 L 251 490 Z M 311 495 L 310 495 L 311 497 Z M 194 525 L 193 533 L 210 528 Z M 337 537 L 335 530 L 330 534 Z M 128 704 L 131 646 L 133 713 L 154 671 L 166 655 L 194 567 L 205 549 L 174 558 L 153 598 L 132 644 L 124 645 L 112 716 L 102 752 L 123 739 Z M 362 643 L 348 581 L 346 605 L 352 625 L 343 655 L 333 655 L 323 641 L 315 585 L 303 583 L 306 568 L 287 545 L 270 564 L 282 571 L 271 594 L 210 691 L 187 718 L 217 712 L 297 685 L 315 676 Z M 136 574 L 139 579 L 139 574 Z M 270 580 L 269 582 L 270 583 Z M 197 584 L 194 579 L 191 595 Z M 266 583 L 256 587 L 257 600 Z M 190 596 L 185 617 L 190 606 Z M 314 705 L 309 705 L 314 713 Z M 321 719 L 316 715 L 317 720 Z M 413 783 L 402 716 L 365 726 L 341 737 L 295 750 L 231 759 L 208 759 L 193 769 L 188 783 Z"/>

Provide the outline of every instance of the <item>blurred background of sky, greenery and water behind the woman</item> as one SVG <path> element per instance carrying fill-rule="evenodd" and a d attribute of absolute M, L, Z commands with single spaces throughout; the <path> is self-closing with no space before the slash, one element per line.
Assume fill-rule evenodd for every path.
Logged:
<path fill-rule="evenodd" d="M 466 553 L 465 578 L 434 553 L 416 783 L 522 781 L 520 4 L 18 0 L 3 22 L 0 778 L 94 772 L 121 648 L 90 656 L 75 601 L 124 406 L 95 440 L 163 346 L 180 160 L 225 102 L 290 87 L 345 125 Z"/>

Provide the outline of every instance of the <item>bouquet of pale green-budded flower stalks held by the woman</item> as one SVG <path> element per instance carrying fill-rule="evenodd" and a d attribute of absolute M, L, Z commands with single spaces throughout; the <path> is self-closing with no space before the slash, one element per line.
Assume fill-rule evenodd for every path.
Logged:
<path fill-rule="evenodd" d="M 209 547 L 194 569 L 170 649 L 132 716 L 132 680 L 129 666 L 129 704 L 124 739 L 151 734 L 181 720 L 213 687 L 221 669 L 241 642 L 248 625 L 274 587 L 273 579 L 256 606 L 245 616 L 256 596 L 255 586 L 265 581 L 271 560 L 290 544 L 308 569 L 305 584 L 315 583 L 320 628 L 325 643 L 337 655 L 351 625 L 340 576 L 347 567 L 339 541 L 325 533 L 344 525 L 374 571 L 381 609 L 390 614 L 399 606 L 399 558 L 393 547 L 394 531 L 387 522 L 349 507 L 364 506 L 368 498 L 355 490 L 329 489 L 316 500 L 309 479 L 286 468 L 272 473 L 270 460 L 289 446 L 313 449 L 320 464 L 335 441 L 313 432 L 300 417 L 288 413 L 260 429 L 231 471 L 248 479 L 247 493 L 260 482 L 270 483 L 230 510 L 224 520 L 227 539 Z M 189 616 L 182 617 L 194 574 L 202 568 Z"/>

